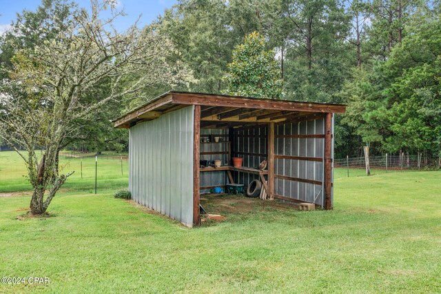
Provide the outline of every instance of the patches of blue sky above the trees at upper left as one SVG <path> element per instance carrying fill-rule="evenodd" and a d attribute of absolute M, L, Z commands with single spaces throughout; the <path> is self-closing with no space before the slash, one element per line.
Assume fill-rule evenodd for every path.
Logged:
<path fill-rule="evenodd" d="M 159 14 L 163 14 L 165 8 L 170 8 L 176 0 L 117 0 L 119 8 L 124 8 L 128 14 L 116 21 L 116 27 L 120 30 L 128 28 L 141 15 L 140 26 L 150 23 Z M 89 7 L 90 0 L 76 0 L 79 6 Z M 0 35 L 8 29 L 11 21 L 15 19 L 17 12 L 35 10 L 41 3 L 40 0 L 0 0 Z"/>

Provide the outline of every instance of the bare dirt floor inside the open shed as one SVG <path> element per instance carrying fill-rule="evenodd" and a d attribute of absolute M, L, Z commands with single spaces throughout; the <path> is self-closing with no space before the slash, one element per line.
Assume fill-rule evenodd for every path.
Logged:
<path fill-rule="evenodd" d="M 226 219 L 243 218 L 247 215 L 269 210 L 298 210 L 298 206 L 278 200 L 262 200 L 243 195 L 203 194 L 201 205 L 209 215 L 222 215 Z M 209 219 L 201 215 L 203 222 L 216 222 L 222 219 Z"/>

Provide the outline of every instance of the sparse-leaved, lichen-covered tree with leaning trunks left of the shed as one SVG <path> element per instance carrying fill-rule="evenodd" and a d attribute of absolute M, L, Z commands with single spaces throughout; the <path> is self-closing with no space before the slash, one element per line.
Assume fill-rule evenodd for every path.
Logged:
<path fill-rule="evenodd" d="M 81 126 L 102 106 L 140 97 L 148 86 L 192 77 L 185 66 L 168 62 L 176 55 L 169 40 L 136 23 L 118 32 L 113 25 L 123 12 L 112 1 L 91 4 L 90 12 L 76 8 L 62 22 L 54 20 L 57 35 L 43 46 L 17 50 L 10 79 L 0 84 L 0 138 L 25 161 L 34 215 L 45 213 L 73 173 L 59 171 L 59 151 L 81 137 Z M 110 17 L 102 17 L 105 10 Z M 107 95 L 94 97 L 103 85 Z"/>

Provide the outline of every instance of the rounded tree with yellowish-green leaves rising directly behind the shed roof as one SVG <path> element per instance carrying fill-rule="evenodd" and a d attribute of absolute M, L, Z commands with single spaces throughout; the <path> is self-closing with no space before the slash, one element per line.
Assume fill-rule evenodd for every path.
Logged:
<path fill-rule="evenodd" d="M 283 81 L 274 50 L 265 50 L 265 38 L 258 32 L 245 37 L 245 43 L 236 46 L 232 63 L 224 79 L 225 94 L 258 98 L 283 98 Z"/>

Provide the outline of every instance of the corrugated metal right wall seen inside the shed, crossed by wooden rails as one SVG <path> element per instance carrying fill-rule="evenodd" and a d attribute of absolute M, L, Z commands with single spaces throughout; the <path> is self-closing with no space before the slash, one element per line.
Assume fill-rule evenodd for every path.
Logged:
<path fill-rule="evenodd" d="M 334 124 L 333 124 L 334 128 Z M 334 133 L 334 129 L 333 129 Z M 291 155 L 298 157 L 319 157 L 325 155 L 324 138 L 289 138 L 278 135 L 322 135 L 325 134 L 325 119 L 300 121 L 297 124 L 279 124 L 275 129 L 276 155 Z M 334 139 L 333 139 L 334 142 Z M 333 143 L 334 146 L 334 143 Z M 334 154 L 334 152 L 333 152 Z M 333 155 L 334 156 L 334 155 Z M 275 160 L 275 174 L 300 179 L 309 179 L 323 182 L 323 161 L 306 161 L 294 159 Z M 333 179 L 334 180 L 334 179 Z M 309 184 L 294 182 L 287 179 L 275 179 L 275 193 L 305 202 L 324 205 L 323 184 Z"/>

